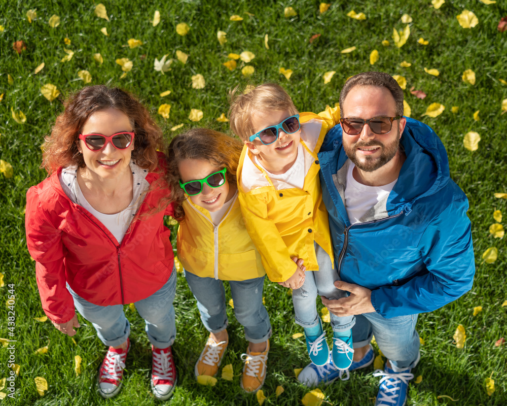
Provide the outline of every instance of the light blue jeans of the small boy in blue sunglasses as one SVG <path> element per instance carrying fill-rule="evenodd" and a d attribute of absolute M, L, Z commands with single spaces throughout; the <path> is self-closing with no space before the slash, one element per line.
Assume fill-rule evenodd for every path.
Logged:
<path fill-rule="evenodd" d="M 334 285 L 334 282 L 339 281 L 340 278 L 336 267 L 333 269 L 333 263 L 328 253 L 317 243 L 314 243 L 314 246 L 319 270 L 307 270 L 303 286 L 292 291 L 296 323 L 302 327 L 315 327 L 319 323 L 320 318 L 315 303 L 317 295 L 328 299 L 339 299 L 347 296 L 347 292 L 337 289 Z M 355 323 L 354 316 L 338 317 L 332 313 L 330 313 L 330 316 L 333 331 L 349 330 Z"/>

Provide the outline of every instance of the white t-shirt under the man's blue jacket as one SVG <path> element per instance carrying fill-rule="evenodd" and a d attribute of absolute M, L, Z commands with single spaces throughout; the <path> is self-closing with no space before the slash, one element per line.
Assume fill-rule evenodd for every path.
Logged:
<path fill-rule="evenodd" d="M 391 192 L 394 182 L 383 186 L 367 186 L 357 182 L 352 176 L 354 163 L 347 159 L 345 165 L 347 168 L 347 184 L 345 186 L 345 209 L 350 220 L 350 224 L 360 223 L 359 219 L 363 217 L 378 201 L 385 198 Z"/>

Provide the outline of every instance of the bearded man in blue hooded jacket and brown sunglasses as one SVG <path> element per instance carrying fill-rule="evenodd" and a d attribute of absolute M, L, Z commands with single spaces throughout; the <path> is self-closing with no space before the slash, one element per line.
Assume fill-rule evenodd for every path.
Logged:
<path fill-rule="evenodd" d="M 472 287 L 475 273 L 468 201 L 449 178 L 442 142 L 403 117 L 403 90 L 388 74 L 355 75 L 340 93 L 340 126 L 321 152 L 322 198 L 329 212 L 339 289 L 322 298 L 338 316 L 356 315 L 354 362 L 373 361 L 372 335 L 387 358 L 376 405 L 403 406 L 419 361 L 417 315 Z M 343 133 L 342 133 L 343 131 Z M 300 381 L 341 378 L 331 365 L 308 365 Z"/>

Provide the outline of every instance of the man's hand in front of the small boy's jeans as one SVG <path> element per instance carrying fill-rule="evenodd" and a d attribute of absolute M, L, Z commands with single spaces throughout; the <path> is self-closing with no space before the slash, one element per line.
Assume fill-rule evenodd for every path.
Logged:
<path fill-rule="evenodd" d="M 343 281 L 336 281 L 335 286 L 337 289 L 350 292 L 350 296 L 335 300 L 321 297 L 322 304 L 334 315 L 343 317 L 375 312 L 370 289 Z"/>

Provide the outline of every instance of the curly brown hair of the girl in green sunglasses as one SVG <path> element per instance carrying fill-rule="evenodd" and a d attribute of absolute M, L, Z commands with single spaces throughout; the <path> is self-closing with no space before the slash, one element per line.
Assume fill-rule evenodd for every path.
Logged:
<path fill-rule="evenodd" d="M 227 181 L 236 184 L 236 171 L 243 144 L 223 132 L 209 128 L 192 128 L 174 137 L 167 149 L 165 180 L 170 193 L 167 200 L 174 202 L 174 218 L 185 219 L 183 201 L 188 197 L 179 186 L 178 164 L 185 159 L 205 159 L 217 167 L 226 167 Z"/>

